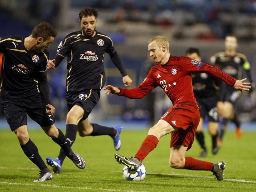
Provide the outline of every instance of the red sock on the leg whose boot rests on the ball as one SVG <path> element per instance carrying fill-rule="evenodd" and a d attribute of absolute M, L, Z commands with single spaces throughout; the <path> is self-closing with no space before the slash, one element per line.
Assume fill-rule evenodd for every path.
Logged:
<path fill-rule="evenodd" d="M 145 159 L 149 152 L 157 147 L 158 138 L 154 135 L 148 135 L 145 140 L 142 142 L 138 152 L 134 157 L 139 158 L 141 161 Z"/>

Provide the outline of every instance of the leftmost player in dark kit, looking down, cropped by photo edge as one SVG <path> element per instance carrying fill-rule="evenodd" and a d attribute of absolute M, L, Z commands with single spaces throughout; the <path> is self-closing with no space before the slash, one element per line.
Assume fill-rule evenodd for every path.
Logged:
<path fill-rule="evenodd" d="M 15 132 L 25 155 L 40 169 L 34 182 L 52 179 L 38 153 L 38 148 L 29 138 L 27 115 L 37 122 L 44 132 L 59 144 L 63 152 L 77 167 L 84 169 L 85 162 L 69 146 L 63 132 L 54 125 L 50 90 L 47 81 L 47 62 L 50 46 L 57 31 L 47 22 L 35 26 L 30 36 L 11 35 L 0 38 L 0 52 L 3 53 L 1 103 L 6 120 Z"/>

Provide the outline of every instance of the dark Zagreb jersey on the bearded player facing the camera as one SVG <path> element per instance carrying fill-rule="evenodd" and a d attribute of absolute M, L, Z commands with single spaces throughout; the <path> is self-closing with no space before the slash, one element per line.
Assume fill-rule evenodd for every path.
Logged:
<path fill-rule="evenodd" d="M 67 57 L 67 91 L 103 88 L 106 79 L 103 65 L 105 52 L 115 52 L 113 42 L 110 37 L 98 31 L 89 39 L 81 31 L 76 31 L 60 42 L 55 66 Z M 121 65 L 123 66 L 122 63 Z"/>

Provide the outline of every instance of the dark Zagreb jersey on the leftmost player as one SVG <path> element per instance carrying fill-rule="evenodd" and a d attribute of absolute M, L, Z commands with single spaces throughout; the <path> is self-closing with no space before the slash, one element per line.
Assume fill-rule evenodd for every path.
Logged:
<path fill-rule="evenodd" d="M 38 73 L 45 72 L 49 53 L 28 51 L 23 36 L 0 38 L 3 53 L 1 97 L 27 97 L 39 94 Z"/>

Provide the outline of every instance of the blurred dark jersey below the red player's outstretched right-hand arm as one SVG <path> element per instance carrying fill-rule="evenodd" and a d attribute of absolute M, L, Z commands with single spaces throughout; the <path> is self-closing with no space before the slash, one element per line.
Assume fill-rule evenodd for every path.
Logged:
<path fill-rule="evenodd" d="M 192 85 L 195 97 L 212 97 L 218 94 L 220 81 L 206 73 L 193 73 Z"/>

